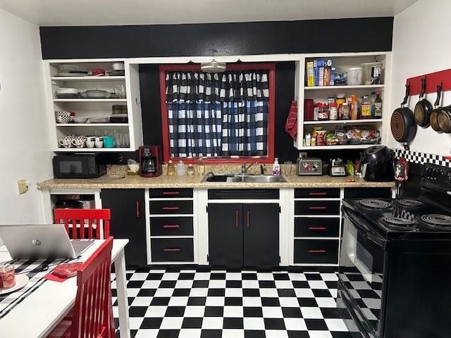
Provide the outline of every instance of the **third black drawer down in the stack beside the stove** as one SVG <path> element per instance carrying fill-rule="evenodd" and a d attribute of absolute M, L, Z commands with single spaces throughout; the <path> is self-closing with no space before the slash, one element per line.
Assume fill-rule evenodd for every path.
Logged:
<path fill-rule="evenodd" d="M 295 237 L 338 237 L 340 218 L 295 218 Z"/>

